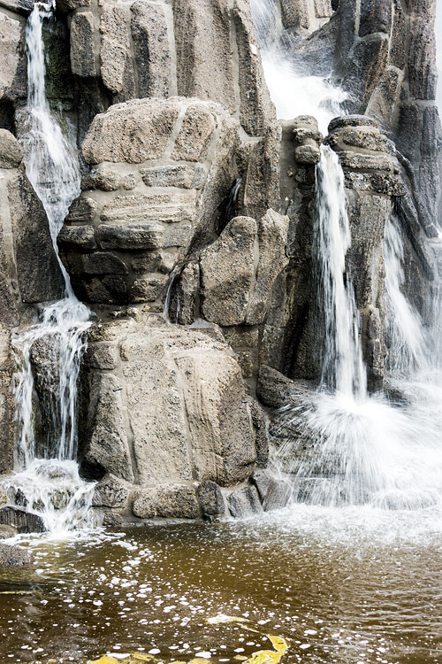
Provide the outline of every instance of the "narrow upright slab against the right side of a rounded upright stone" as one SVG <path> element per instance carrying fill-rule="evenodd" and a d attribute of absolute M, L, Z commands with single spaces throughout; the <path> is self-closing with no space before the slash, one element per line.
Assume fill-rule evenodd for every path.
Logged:
<path fill-rule="evenodd" d="M 246 323 L 262 323 L 271 304 L 271 290 L 278 275 L 288 265 L 286 242 L 288 217 L 268 210 L 258 222 L 258 261 Z"/>

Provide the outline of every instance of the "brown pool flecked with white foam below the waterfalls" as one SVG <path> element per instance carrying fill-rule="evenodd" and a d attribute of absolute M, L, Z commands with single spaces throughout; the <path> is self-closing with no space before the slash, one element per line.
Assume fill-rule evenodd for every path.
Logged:
<path fill-rule="evenodd" d="M 238 662 L 272 651 L 270 634 L 282 664 L 442 662 L 441 524 L 299 506 L 37 541 L 33 569 L 0 574 L 0 661 Z M 208 622 L 219 614 L 243 622 Z"/>

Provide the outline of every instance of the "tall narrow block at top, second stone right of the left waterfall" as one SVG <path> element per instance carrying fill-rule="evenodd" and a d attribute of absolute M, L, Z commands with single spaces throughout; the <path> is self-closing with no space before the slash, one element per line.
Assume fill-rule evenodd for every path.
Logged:
<path fill-rule="evenodd" d="M 104 6 L 100 21 L 100 72 L 103 83 L 118 100 L 135 97 L 131 44 L 124 4 Z"/>

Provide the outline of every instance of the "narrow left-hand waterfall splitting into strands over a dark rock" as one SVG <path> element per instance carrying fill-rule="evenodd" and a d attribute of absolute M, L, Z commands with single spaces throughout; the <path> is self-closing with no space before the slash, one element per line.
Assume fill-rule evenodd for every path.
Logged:
<path fill-rule="evenodd" d="M 43 306 L 39 320 L 13 339 L 19 367 L 14 396 L 21 471 L 4 486 L 13 503 L 40 513 L 47 529 L 60 534 L 88 521 L 94 485 L 81 480 L 75 461 L 77 387 L 90 312 L 75 297 L 57 251 L 58 232 L 69 205 L 80 194 L 80 167 L 45 93 L 42 25 L 53 18 L 54 6 L 35 4 L 27 21 L 27 118 L 21 143 L 27 177 L 47 213 L 65 294 Z"/>

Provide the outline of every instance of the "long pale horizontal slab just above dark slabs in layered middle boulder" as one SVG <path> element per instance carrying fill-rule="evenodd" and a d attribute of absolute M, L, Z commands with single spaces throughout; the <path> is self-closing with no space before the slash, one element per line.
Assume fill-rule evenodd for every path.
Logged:
<path fill-rule="evenodd" d="M 104 205 L 100 219 L 113 224 L 192 223 L 195 213 L 194 190 L 152 189 L 148 194 L 113 198 Z"/>

